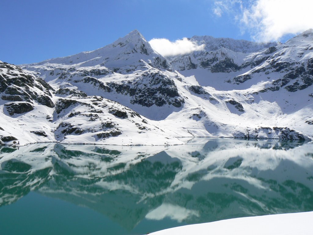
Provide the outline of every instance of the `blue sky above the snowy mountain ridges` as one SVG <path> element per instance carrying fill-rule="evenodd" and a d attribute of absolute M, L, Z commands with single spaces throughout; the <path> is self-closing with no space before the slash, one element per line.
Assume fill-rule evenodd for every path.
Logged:
<path fill-rule="evenodd" d="M 290 37 L 290 33 L 309 28 L 301 25 L 302 28 L 280 32 L 278 38 L 264 36 L 270 26 L 259 25 L 264 16 L 255 18 L 254 15 L 258 12 L 257 4 L 266 2 L 269 0 L 3 1 L 0 60 L 12 64 L 33 63 L 95 50 L 134 29 L 147 40 L 174 41 L 193 35 L 285 40 L 286 34 Z"/>

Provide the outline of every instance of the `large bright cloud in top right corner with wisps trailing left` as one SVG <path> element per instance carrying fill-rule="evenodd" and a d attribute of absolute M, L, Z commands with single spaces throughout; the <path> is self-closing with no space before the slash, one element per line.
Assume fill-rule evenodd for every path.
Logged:
<path fill-rule="evenodd" d="M 312 8 L 312 0 L 218 0 L 212 11 L 227 13 L 255 41 L 276 41 L 313 28 Z"/>

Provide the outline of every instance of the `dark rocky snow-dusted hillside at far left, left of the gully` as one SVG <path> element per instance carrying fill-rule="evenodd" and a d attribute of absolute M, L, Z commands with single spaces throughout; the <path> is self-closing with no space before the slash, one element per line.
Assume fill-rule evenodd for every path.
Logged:
<path fill-rule="evenodd" d="M 54 140 L 50 117 L 53 89 L 20 67 L 0 63 L 0 144 Z"/>

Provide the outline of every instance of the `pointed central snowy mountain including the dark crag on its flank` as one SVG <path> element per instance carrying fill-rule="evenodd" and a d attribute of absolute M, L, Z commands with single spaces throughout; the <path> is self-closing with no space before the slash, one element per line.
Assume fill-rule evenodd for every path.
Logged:
<path fill-rule="evenodd" d="M 184 103 L 176 77 L 164 72 L 171 66 L 137 30 L 95 51 L 22 67 L 50 84 L 106 97 L 148 118 L 165 118 Z"/>

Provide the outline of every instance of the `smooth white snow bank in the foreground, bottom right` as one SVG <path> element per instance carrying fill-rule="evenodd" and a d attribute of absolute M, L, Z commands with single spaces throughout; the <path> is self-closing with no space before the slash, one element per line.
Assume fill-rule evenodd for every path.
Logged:
<path fill-rule="evenodd" d="M 278 214 L 221 220 L 169 228 L 151 235 L 232 234 L 308 235 L 312 234 L 313 212 Z"/>

